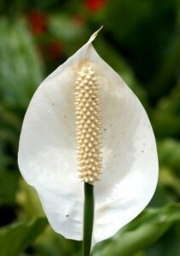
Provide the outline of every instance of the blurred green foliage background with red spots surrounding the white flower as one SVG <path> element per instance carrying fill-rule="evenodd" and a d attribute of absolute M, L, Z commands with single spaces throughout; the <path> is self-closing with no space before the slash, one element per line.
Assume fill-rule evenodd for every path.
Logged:
<path fill-rule="evenodd" d="M 179 0 L 0 0 L 0 256 L 81 255 L 49 227 L 17 166 L 20 127 L 38 84 L 94 43 L 148 111 L 160 180 L 147 209 L 95 256 L 180 256 Z"/>

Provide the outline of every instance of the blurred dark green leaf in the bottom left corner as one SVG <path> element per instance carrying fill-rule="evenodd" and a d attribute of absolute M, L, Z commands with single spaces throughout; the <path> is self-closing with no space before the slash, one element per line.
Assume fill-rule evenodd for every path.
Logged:
<path fill-rule="evenodd" d="M 47 223 L 46 218 L 36 218 L 0 229 L 1 256 L 19 255 L 44 231 Z"/>

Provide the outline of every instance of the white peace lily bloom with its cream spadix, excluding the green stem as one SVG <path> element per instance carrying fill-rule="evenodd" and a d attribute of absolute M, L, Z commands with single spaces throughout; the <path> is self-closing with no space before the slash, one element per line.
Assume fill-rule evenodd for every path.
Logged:
<path fill-rule="evenodd" d="M 97 55 L 91 44 L 96 34 L 38 87 L 18 156 L 49 224 L 66 238 L 83 239 L 84 182 L 94 186 L 93 244 L 142 212 L 158 179 L 147 113 Z"/>

